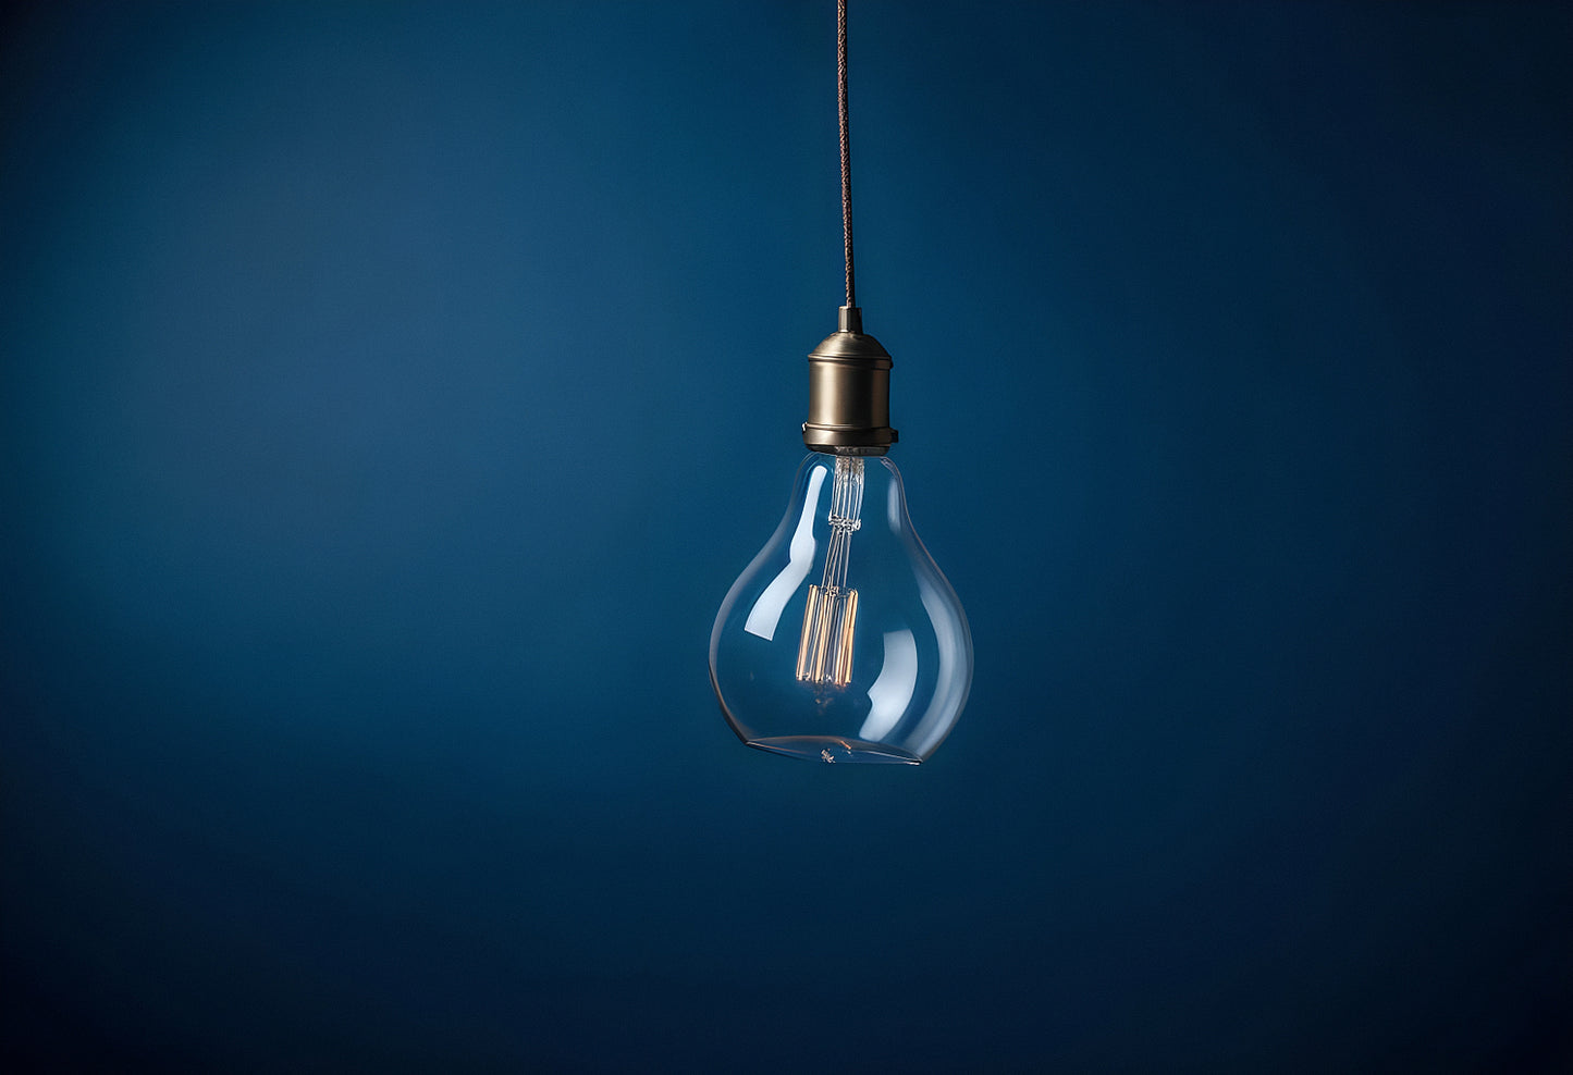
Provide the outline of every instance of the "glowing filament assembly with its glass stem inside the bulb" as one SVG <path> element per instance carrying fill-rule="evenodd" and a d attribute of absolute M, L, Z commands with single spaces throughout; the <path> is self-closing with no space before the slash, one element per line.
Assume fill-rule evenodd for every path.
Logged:
<path fill-rule="evenodd" d="M 831 545 L 824 578 L 809 586 L 798 640 L 798 679 L 805 684 L 845 687 L 853 679 L 853 627 L 857 622 L 857 591 L 846 585 L 853 533 L 862 526 L 864 459 L 837 456 L 831 486 Z"/>

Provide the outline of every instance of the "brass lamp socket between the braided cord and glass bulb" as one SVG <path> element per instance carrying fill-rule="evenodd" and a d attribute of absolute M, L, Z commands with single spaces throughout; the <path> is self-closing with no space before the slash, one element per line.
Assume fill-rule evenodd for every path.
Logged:
<path fill-rule="evenodd" d="M 864 311 L 842 306 L 838 328 L 809 352 L 802 443 L 837 456 L 882 456 L 890 427 L 890 352 L 864 335 Z"/>

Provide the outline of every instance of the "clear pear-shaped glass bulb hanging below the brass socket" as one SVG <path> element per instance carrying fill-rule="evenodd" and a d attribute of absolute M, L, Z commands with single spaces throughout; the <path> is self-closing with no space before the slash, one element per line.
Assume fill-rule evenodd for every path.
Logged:
<path fill-rule="evenodd" d="M 886 456 L 810 453 L 780 526 L 709 635 L 709 681 L 749 747 L 915 765 L 972 685 L 956 591 L 906 512 Z"/>

